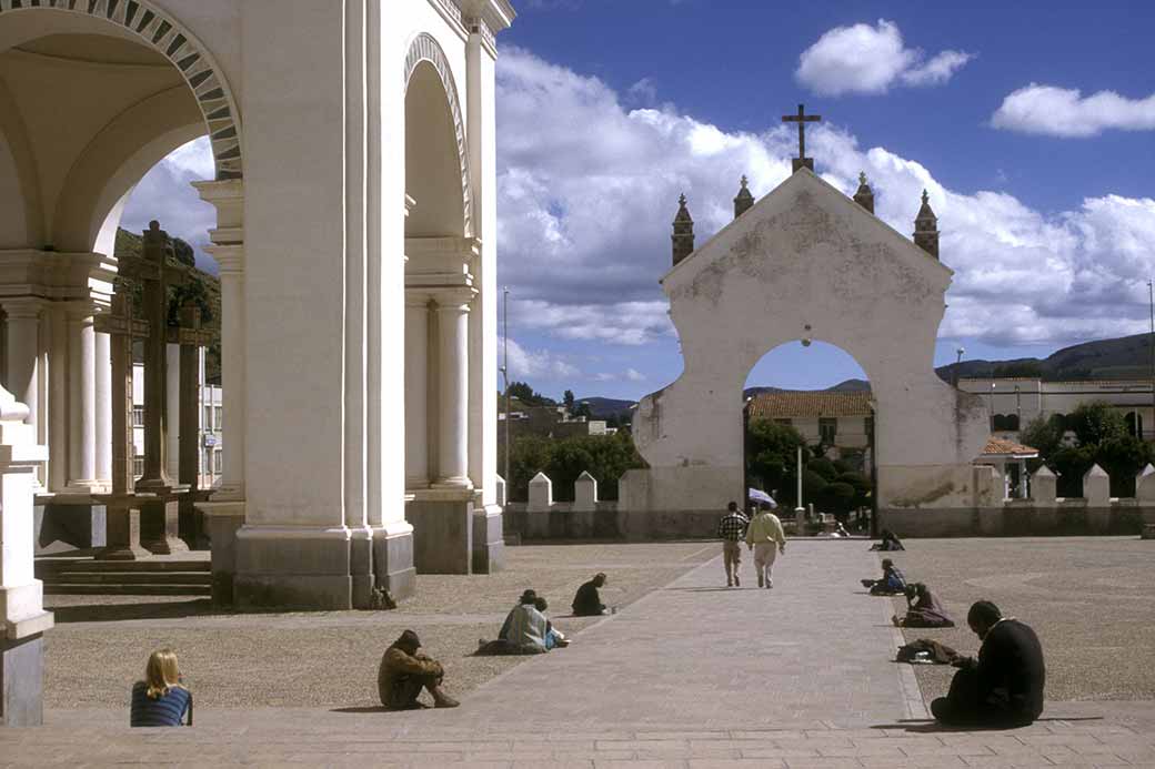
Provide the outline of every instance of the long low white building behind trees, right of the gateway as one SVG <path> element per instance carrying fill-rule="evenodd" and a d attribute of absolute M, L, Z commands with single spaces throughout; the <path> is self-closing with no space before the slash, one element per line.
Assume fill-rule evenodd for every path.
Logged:
<path fill-rule="evenodd" d="M 1015 439 L 1038 416 L 1070 415 L 1080 404 L 1105 401 L 1123 415 L 1132 435 L 1155 440 L 1152 384 L 1142 380 L 1087 380 L 1048 382 L 1041 379 L 971 378 L 959 380 L 959 389 L 986 401 L 991 433 Z"/>

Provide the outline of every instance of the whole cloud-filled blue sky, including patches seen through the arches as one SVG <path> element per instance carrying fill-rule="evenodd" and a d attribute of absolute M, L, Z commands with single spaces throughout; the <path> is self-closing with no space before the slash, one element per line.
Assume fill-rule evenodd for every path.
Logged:
<path fill-rule="evenodd" d="M 1155 246 L 1155 3 L 522 0 L 499 36 L 499 281 L 511 369 L 560 396 L 636 398 L 677 378 L 657 279 L 685 191 L 702 244 L 738 177 L 789 172 L 799 102 L 817 170 L 909 233 L 923 187 L 956 274 L 937 363 L 1045 356 L 1147 328 Z M 211 170 L 203 142 L 126 211 Z M 200 155 L 198 155 L 198 151 Z M 202 178 L 202 177 L 201 177 Z M 137 200 L 139 199 L 139 200 Z M 182 202 L 184 201 L 184 202 Z M 203 241 L 200 218 L 189 237 Z M 211 225 L 211 211 L 208 212 Z M 180 227 L 171 227 L 179 232 Z M 785 345 L 748 383 L 858 376 Z"/>

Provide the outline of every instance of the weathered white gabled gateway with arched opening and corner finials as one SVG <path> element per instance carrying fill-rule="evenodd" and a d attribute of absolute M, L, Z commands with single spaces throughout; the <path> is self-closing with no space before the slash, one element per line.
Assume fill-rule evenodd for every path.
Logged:
<path fill-rule="evenodd" d="M 662 512 L 662 525 L 684 530 L 742 498 L 743 383 L 762 354 L 796 339 L 837 345 L 866 372 L 884 515 L 970 508 L 986 410 L 933 371 L 952 271 L 937 259 L 925 200 L 922 247 L 807 167 L 696 251 L 687 219 L 679 212 L 662 278 L 685 371 L 639 405 L 634 436 L 650 469 L 627 476 L 631 517 Z"/>

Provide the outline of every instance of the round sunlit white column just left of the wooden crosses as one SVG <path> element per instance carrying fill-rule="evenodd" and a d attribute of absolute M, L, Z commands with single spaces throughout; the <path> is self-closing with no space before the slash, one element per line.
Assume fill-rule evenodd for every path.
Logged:
<path fill-rule="evenodd" d="M 68 486 L 96 483 L 96 331 L 92 309 L 68 311 Z"/>

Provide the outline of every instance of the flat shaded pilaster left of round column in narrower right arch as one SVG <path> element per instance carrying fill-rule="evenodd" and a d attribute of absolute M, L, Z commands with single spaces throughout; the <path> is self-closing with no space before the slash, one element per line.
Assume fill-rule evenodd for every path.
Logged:
<path fill-rule="evenodd" d="M 430 481 L 429 294 L 405 292 L 405 487 Z"/>

